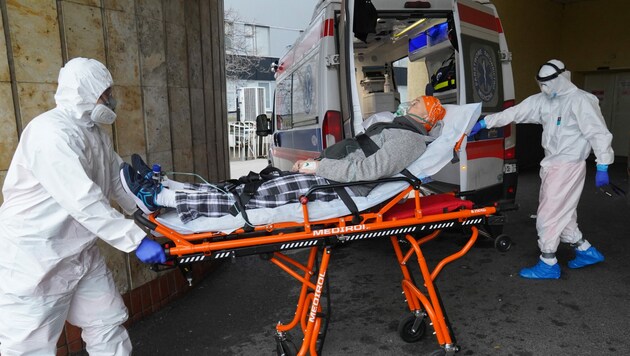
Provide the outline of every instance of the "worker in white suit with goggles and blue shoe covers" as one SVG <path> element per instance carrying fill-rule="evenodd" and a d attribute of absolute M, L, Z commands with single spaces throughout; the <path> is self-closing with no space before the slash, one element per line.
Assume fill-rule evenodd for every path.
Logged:
<path fill-rule="evenodd" d="M 595 153 L 595 185 L 609 184 L 608 165 L 613 163 L 612 135 L 599 108 L 597 98 L 578 89 L 570 73 L 559 60 L 543 64 L 536 76 L 542 93 L 520 104 L 479 120 L 471 134 L 483 128 L 504 126 L 511 122 L 543 125 L 542 146 L 545 158 L 540 162 L 538 246 L 540 261 L 524 268 L 524 278 L 560 278 L 556 250 L 560 242 L 575 247 L 575 259 L 569 268 L 580 268 L 604 260 L 604 256 L 582 237 L 577 224 L 577 206 L 584 187 L 586 162 L 591 148 Z"/>

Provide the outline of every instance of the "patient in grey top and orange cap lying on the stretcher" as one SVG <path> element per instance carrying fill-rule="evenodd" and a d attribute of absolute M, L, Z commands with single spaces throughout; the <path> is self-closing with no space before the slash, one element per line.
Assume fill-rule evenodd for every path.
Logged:
<path fill-rule="evenodd" d="M 439 134 L 437 128 L 444 115 L 438 99 L 418 97 L 411 102 L 408 112 L 393 122 L 370 125 L 358 139 L 346 139 L 328 147 L 317 160 L 297 161 L 292 172 L 273 172 L 276 177 L 263 182 L 244 206 L 275 208 L 298 202 L 315 185 L 394 176 L 424 153 L 427 143 Z M 151 168 L 139 156 L 135 155 L 132 161 L 132 165 L 121 165 L 121 181 L 144 213 L 150 214 L 161 207 L 175 208 L 186 223 L 201 216 L 220 217 L 231 212 L 235 197 L 223 187 L 172 180 L 163 185 L 152 179 Z M 243 185 L 235 187 L 235 193 L 241 195 L 243 188 Z M 357 185 L 349 189 L 355 196 L 366 196 L 371 188 Z M 339 196 L 332 190 L 319 190 L 309 198 L 330 201 Z"/>

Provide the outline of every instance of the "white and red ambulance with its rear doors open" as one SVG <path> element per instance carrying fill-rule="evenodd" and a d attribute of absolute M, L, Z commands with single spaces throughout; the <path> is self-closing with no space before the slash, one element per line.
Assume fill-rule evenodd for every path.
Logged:
<path fill-rule="evenodd" d="M 273 70 L 273 114 L 257 131 L 271 135 L 268 158 L 282 170 L 418 95 L 482 103 L 483 114 L 514 105 L 511 54 L 489 1 L 322 0 Z M 513 202 L 515 133 L 513 124 L 483 130 L 431 184 L 478 203 Z"/>

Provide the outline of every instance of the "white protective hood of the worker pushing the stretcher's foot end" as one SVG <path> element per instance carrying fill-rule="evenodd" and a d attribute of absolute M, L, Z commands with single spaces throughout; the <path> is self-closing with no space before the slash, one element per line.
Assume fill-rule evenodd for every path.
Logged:
<path fill-rule="evenodd" d="M 77 120 L 91 122 L 89 114 L 98 98 L 113 85 L 112 75 L 95 59 L 74 58 L 59 71 L 55 93 L 57 107 Z"/>

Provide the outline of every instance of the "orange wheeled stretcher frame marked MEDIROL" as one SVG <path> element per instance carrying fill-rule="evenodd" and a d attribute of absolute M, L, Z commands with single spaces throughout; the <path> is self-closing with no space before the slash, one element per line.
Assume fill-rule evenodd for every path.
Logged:
<path fill-rule="evenodd" d="M 406 180 L 410 186 L 388 202 L 355 215 L 342 216 L 322 221 L 309 220 L 308 194 L 317 189 L 330 189 L 330 186 L 312 188 L 300 200 L 304 216 L 303 223 L 286 222 L 255 226 L 252 231 L 239 229 L 226 234 L 204 232 L 180 234 L 156 219 L 159 212 L 145 217 L 138 211 L 136 222 L 164 236 L 167 255 L 173 264 L 190 264 L 207 260 L 222 260 L 239 256 L 260 254 L 301 283 L 295 316 L 289 323 L 276 325 L 278 355 L 317 355 L 323 347 L 321 335 L 325 335 L 327 315 L 322 306 L 322 293 L 326 273 L 332 253 L 331 247 L 364 239 L 389 237 L 394 247 L 398 264 L 402 271 L 402 290 L 405 294 L 411 315 L 402 320 L 399 334 L 406 342 L 420 340 L 425 334 L 426 317 L 434 328 L 440 349 L 435 355 L 452 355 L 459 350 L 452 330 L 436 291 L 435 279 L 450 262 L 464 256 L 478 237 L 478 226 L 489 220 L 501 219 L 496 215 L 500 210 L 513 207 L 474 206 L 454 194 L 420 195 L 420 182 L 407 178 L 386 178 L 377 182 Z M 361 184 L 361 182 L 345 185 Z M 365 182 L 363 182 L 365 184 Z M 412 197 L 410 197 L 412 196 Z M 354 222 L 353 222 L 354 221 Z M 459 251 L 443 258 L 432 269 L 427 265 L 422 247 L 438 237 L 443 229 L 468 227 L 467 243 Z M 409 248 L 401 246 L 408 242 Z M 308 249 L 308 258 L 299 262 L 283 252 L 294 249 Z M 423 282 L 414 283 L 408 263 L 415 258 L 420 267 Z M 319 261 L 319 262 L 316 262 Z M 303 342 L 299 350 L 287 341 L 287 333 L 299 327 Z"/>

